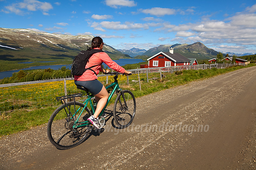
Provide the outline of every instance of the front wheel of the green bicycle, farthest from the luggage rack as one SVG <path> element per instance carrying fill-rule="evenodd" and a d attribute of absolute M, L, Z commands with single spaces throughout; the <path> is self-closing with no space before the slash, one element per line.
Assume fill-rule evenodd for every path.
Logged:
<path fill-rule="evenodd" d="M 117 95 L 113 109 L 114 120 L 121 128 L 128 127 L 133 122 L 136 113 L 136 101 L 133 93 L 129 90 L 124 90 L 123 93 L 128 109 L 125 107 L 121 93 Z"/>

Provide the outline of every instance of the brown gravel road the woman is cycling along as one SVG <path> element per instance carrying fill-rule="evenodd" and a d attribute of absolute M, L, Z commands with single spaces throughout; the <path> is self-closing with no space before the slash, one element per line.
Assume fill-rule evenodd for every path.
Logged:
<path fill-rule="evenodd" d="M 46 124 L 0 138 L 0 169 L 255 169 L 256 67 L 136 98 L 136 115 L 58 150 Z M 112 106 L 107 108 L 111 114 Z"/>

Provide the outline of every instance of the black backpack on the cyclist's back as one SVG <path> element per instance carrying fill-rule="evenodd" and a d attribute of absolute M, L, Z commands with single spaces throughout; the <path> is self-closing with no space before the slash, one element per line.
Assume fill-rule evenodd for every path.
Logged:
<path fill-rule="evenodd" d="M 89 58 L 97 52 L 103 52 L 101 49 L 91 49 L 87 46 L 87 50 L 82 50 L 73 60 L 72 66 L 71 66 L 71 74 L 73 76 L 81 76 L 86 70 L 92 70 L 92 67 L 85 68 Z M 92 70 L 94 73 L 95 71 Z M 96 73 L 95 73 L 96 74 Z"/>

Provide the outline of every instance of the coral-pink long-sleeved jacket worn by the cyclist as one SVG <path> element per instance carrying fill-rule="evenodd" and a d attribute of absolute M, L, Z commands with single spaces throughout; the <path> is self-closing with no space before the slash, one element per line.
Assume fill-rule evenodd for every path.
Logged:
<path fill-rule="evenodd" d="M 95 48 L 99 49 L 99 48 Z M 86 64 L 85 68 L 89 68 L 91 66 L 97 65 L 95 67 L 92 67 L 92 70 L 95 71 L 95 73 L 98 75 L 98 73 L 101 71 L 101 64 L 105 63 L 108 65 L 108 67 L 112 68 L 113 70 L 124 73 L 125 69 L 118 65 L 116 62 L 114 62 L 107 53 L 105 52 L 98 52 L 93 54 Z M 86 70 L 83 75 L 81 76 L 75 76 L 74 80 L 78 81 L 89 81 L 89 80 L 95 80 L 98 79 L 98 77 L 95 75 L 95 73 L 92 70 Z"/>

